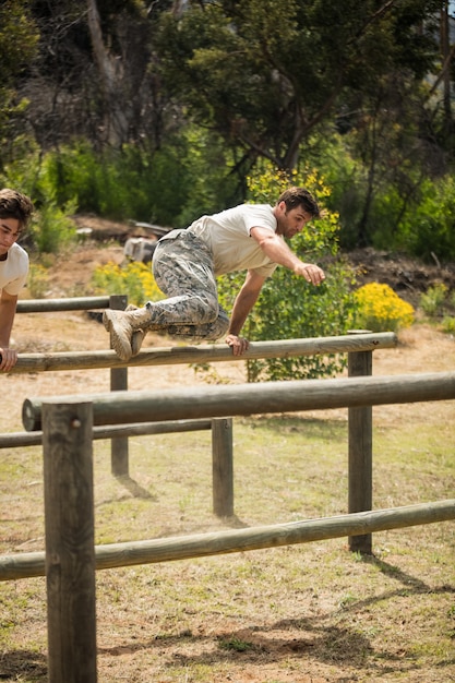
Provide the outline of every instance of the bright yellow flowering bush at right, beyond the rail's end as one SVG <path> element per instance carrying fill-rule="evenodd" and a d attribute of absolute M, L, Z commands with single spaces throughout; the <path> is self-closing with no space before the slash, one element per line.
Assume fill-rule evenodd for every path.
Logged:
<path fill-rule="evenodd" d="M 357 301 L 356 325 L 371 332 L 397 332 L 410 327 L 415 310 L 388 285 L 369 283 L 355 292 Z"/>

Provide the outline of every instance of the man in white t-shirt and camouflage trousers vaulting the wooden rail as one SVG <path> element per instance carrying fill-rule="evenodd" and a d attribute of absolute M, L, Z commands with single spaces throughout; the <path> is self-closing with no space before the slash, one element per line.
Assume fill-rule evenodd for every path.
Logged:
<path fill-rule="evenodd" d="M 202 216 L 189 228 L 165 235 L 155 249 L 153 274 L 169 297 L 132 311 L 106 310 L 103 321 L 119 358 L 136 356 L 148 331 L 170 336 L 216 340 L 227 334 L 235 356 L 249 347 L 240 336 L 267 277 L 283 265 L 308 283 L 320 285 L 324 272 L 303 263 L 285 242 L 321 213 L 303 188 L 289 188 L 275 206 L 241 204 Z M 219 305 L 216 277 L 247 271 L 230 320 Z"/>

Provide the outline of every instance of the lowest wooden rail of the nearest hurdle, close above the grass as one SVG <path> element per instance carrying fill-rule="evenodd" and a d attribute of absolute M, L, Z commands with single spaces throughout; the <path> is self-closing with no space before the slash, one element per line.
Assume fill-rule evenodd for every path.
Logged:
<path fill-rule="evenodd" d="M 97 570 L 359 536 L 455 519 L 455 499 L 247 529 L 95 546 Z M 45 552 L 0 555 L 0 580 L 45 575 Z"/>

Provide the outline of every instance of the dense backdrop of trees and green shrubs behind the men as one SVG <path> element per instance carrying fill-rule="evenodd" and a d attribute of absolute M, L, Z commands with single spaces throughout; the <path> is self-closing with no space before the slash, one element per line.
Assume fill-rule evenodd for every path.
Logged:
<path fill-rule="evenodd" d="M 39 208 L 184 227 L 250 199 L 266 163 L 316 169 L 343 247 L 455 259 L 446 0 L 0 12 L 0 177 Z"/>

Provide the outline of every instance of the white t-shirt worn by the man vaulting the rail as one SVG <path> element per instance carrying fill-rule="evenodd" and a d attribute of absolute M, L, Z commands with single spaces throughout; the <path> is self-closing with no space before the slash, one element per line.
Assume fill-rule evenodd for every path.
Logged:
<path fill-rule="evenodd" d="M 188 229 L 209 245 L 215 275 L 251 269 L 268 277 L 277 264 L 264 254 L 251 237 L 251 228 L 266 228 L 276 232 L 277 221 L 272 206 L 240 204 L 213 216 L 202 216 Z"/>

